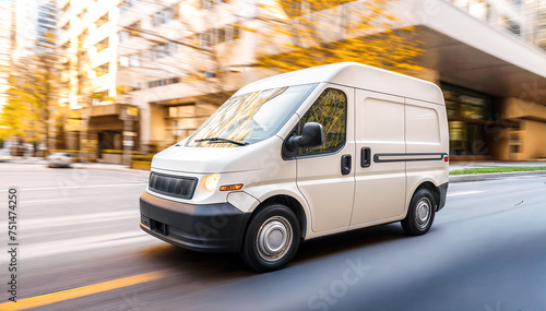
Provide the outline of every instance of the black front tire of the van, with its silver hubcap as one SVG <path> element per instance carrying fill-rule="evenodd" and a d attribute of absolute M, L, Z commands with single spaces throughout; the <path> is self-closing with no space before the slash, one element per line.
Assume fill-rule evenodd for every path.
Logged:
<path fill-rule="evenodd" d="M 301 237 L 294 212 L 282 204 L 270 204 L 250 218 L 240 256 L 257 272 L 285 266 L 296 254 Z"/>

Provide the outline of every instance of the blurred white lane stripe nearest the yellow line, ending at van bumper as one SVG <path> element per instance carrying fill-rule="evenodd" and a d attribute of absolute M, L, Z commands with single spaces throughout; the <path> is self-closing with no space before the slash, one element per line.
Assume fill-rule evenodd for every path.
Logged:
<path fill-rule="evenodd" d="M 73 239 L 64 239 L 52 242 L 40 242 L 34 244 L 20 244 L 21 259 L 37 259 L 49 255 L 67 254 L 88 250 L 99 250 L 110 247 L 120 247 L 132 243 L 150 241 L 153 238 L 143 231 L 129 231 L 109 234 L 94 237 L 81 237 Z M 7 262 L 7 256 L 3 256 L 1 262 Z"/>

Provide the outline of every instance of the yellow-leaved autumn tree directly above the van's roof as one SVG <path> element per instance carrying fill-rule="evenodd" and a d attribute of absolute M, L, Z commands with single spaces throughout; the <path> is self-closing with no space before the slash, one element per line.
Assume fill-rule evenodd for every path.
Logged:
<path fill-rule="evenodd" d="M 391 13 L 397 1 L 289 0 L 261 5 L 259 65 L 278 71 L 355 61 L 401 73 L 422 70 L 413 27 Z"/>

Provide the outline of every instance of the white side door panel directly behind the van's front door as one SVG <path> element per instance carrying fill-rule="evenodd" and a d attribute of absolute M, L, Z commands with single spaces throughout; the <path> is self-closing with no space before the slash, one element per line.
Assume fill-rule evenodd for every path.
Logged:
<path fill-rule="evenodd" d="M 363 89 L 355 93 L 352 228 L 400 219 L 406 198 L 404 98 Z"/>

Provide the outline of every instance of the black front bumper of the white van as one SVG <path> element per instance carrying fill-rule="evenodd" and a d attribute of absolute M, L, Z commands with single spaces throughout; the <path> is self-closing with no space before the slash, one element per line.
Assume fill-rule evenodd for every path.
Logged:
<path fill-rule="evenodd" d="M 145 192 L 140 196 L 142 230 L 201 252 L 238 252 L 250 213 L 229 203 L 193 205 Z"/>

